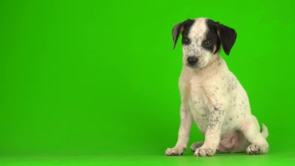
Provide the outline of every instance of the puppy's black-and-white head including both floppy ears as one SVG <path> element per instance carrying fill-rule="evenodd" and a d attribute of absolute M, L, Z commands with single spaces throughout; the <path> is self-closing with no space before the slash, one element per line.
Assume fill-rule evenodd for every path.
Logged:
<path fill-rule="evenodd" d="M 182 34 L 183 64 L 202 68 L 219 56 L 220 45 L 227 55 L 236 40 L 234 29 L 208 18 L 187 19 L 174 26 L 173 49 Z"/>

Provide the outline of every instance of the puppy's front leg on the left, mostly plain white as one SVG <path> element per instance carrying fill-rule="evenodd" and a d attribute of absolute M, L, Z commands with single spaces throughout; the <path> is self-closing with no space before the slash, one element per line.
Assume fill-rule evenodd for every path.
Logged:
<path fill-rule="evenodd" d="M 174 148 L 168 148 L 165 151 L 166 156 L 182 155 L 187 148 L 190 138 L 190 132 L 193 124 L 193 116 L 189 109 L 183 104 L 180 106 L 180 128 L 178 132 L 178 140 Z"/>

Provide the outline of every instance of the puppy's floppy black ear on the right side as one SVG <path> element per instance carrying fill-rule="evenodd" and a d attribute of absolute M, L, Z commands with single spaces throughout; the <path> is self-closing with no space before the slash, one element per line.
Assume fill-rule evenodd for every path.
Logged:
<path fill-rule="evenodd" d="M 237 33 L 234 29 L 229 28 L 225 25 L 217 23 L 217 35 L 222 44 L 224 52 L 229 55 L 229 52 L 236 41 Z"/>

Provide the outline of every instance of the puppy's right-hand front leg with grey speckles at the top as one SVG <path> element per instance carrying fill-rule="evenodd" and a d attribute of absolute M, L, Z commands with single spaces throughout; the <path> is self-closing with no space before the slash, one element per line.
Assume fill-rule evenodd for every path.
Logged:
<path fill-rule="evenodd" d="M 225 114 L 225 109 L 221 104 L 212 106 L 204 144 L 196 149 L 195 156 L 212 156 L 215 153 L 220 141 L 221 127 Z"/>

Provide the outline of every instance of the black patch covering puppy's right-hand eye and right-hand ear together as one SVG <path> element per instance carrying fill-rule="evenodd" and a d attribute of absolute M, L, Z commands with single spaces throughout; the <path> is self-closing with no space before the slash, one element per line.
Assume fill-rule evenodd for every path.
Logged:
<path fill-rule="evenodd" d="M 204 40 L 202 46 L 215 54 L 220 50 L 221 44 L 224 52 L 229 55 L 229 52 L 237 37 L 235 30 L 211 19 L 207 19 L 206 24 L 208 27 L 206 40 L 211 40 L 213 44 L 211 46 L 206 46 L 206 40 Z M 216 46 L 216 50 L 213 52 L 214 46 Z"/>

